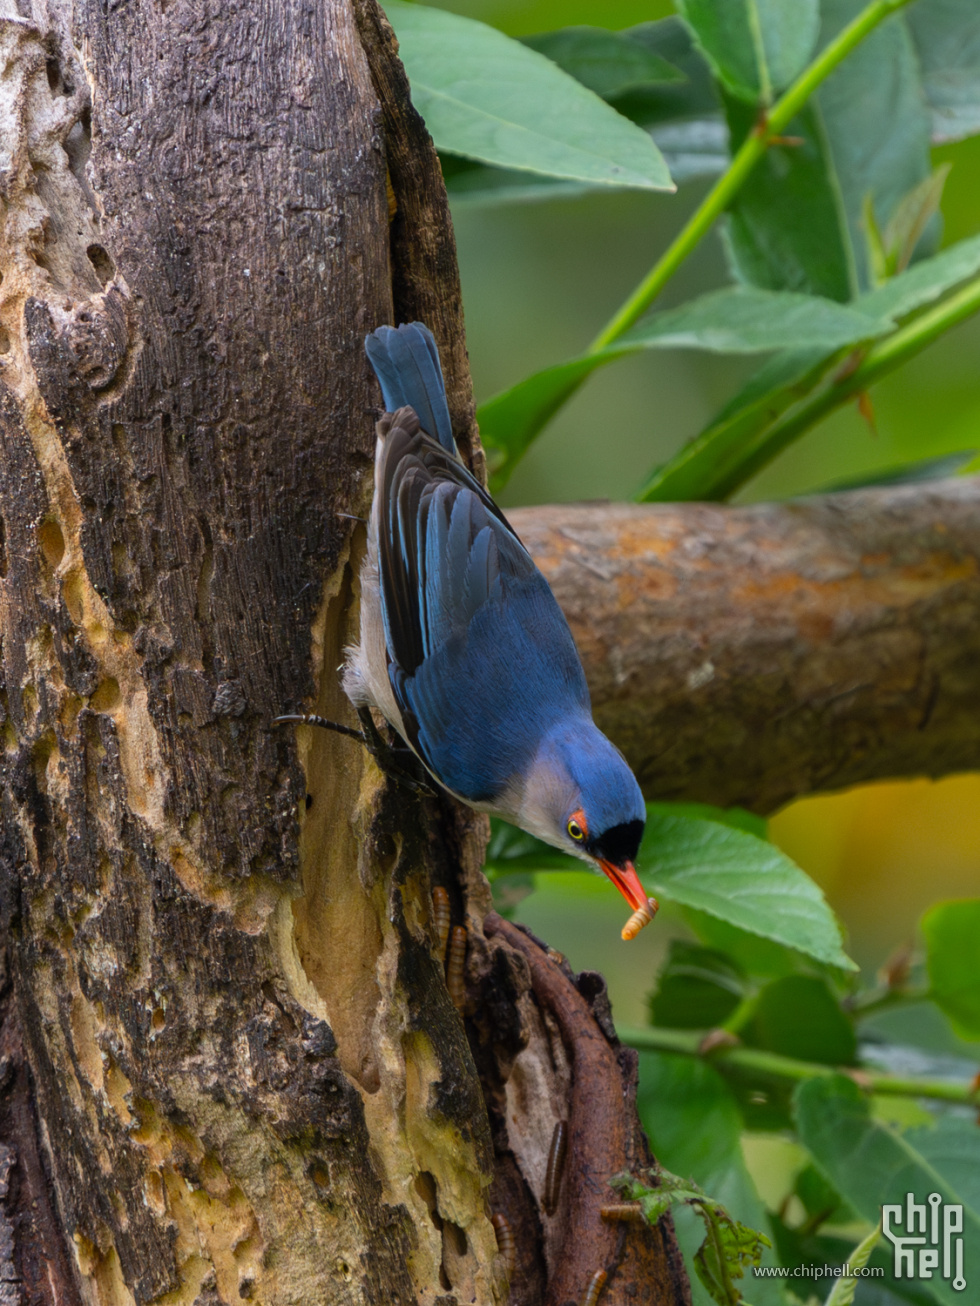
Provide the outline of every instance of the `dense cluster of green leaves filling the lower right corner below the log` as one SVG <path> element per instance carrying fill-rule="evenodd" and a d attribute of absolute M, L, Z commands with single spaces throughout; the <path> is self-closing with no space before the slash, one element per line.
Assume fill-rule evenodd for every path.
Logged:
<path fill-rule="evenodd" d="M 980 901 L 949 902 L 923 922 L 928 996 L 942 1008 L 953 1003 L 973 1016 L 977 913 Z M 862 1037 L 864 1023 L 882 1006 L 924 1000 L 925 990 L 909 974 L 911 968 L 917 976 L 919 961 L 896 969 L 891 987 L 864 991 L 840 972 L 780 949 L 784 964 L 774 978 L 779 968 L 772 957 L 762 956 L 757 965 L 741 931 L 710 917 L 695 916 L 693 925 L 700 940 L 674 939 L 661 965 L 651 1028 L 621 1030 L 640 1049 L 638 1107 L 660 1161 L 715 1194 L 734 1220 L 768 1230 L 774 1252 L 767 1252 L 766 1263 L 789 1268 L 856 1264 L 853 1233 L 835 1230 L 877 1225 L 882 1204 L 904 1203 L 908 1192 L 920 1204 L 939 1192 L 967 1209 L 966 1277 L 976 1281 L 980 1131 L 972 1111 L 963 1114 L 964 1106 L 977 1102 L 970 1062 L 962 1063 L 959 1081 L 943 1077 L 949 1076 L 943 1063 L 932 1077 L 920 1072 L 902 1079 L 875 1068 L 879 1051 Z M 712 1024 L 715 1034 L 706 1041 Z M 973 1025 L 963 1032 L 976 1037 Z M 898 1059 L 903 1055 L 899 1051 Z M 923 1054 L 917 1059 L 925 1070 Z M 853 1067 L 856 1079 L 838 1067 Z M 932 1113 L 913 1109 L 916 1100 L 929 1101 Z M 887 1110 L 883 1104 L 890 1104 Z M 890 1123 L 895 1119 L 906 1123 Z M 801 1160 L 779 1212 L 766 1212 L 745 1166 L 746 1130 L 792 1134 L 797 1141 Z M 791 1199 L 800 1213 L 789 1213 Z M 690 1259 L 693 1234 L 679 1217 L 678 1230 Z M 875 1289 L 882 1306 L 899 1299 L 917 1306 L 963 1299 L 947 1281 L 894 1279 L 889 1242 L 875 1246 L 868 1238 L 860 1250 L 885 1275 L 883 1286 Z M 779 1280 L 758 1279 L 746 1294 L 776 1302 L 777 1285 Z M 853 1286 L 853 1280 L 849 1288 L 841 1285 L 830 1301 L 851 1299 Z"/>

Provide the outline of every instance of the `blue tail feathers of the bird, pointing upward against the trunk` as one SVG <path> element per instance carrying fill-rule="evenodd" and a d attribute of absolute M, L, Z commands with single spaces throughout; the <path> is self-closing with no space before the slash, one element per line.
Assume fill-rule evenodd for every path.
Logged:
<path fill-rule="evenodd" d="M 379 326 L 365 340 L 367 358 L 378 377 L 389 413 L 413 407 L 422 430 L 448 452 L 456 453 L 439 350 L 422 323 Z"/>

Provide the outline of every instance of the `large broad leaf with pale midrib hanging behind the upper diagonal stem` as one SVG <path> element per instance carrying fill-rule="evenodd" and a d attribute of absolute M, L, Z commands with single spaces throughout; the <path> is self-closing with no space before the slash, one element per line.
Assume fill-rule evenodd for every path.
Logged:
<path fill-rule="evenodd" d="M 862 5 L 823 0 L 821 46 Z M 727 110 L 734 145 L 754 128 L 755 114 L 732 98 Z M 885 227 L 930 174 L 929 114 L 903 16 L 844 60 L 789 124 L 785 140 L 798 144 L 767 150 L 732 206 L 734 266 L 758 286 L 852 299 L 872 285 L 865 197 Z"/>

